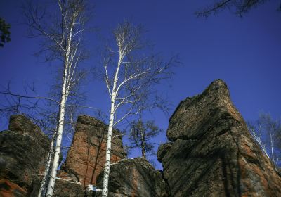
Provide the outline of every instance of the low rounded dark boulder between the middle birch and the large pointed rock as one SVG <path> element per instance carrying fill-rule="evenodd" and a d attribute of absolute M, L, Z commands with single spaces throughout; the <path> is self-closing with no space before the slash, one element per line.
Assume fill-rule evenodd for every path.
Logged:
<path fill-rule="evenodd" d="M 98 188 L 103 187 L 103 172 L 97 179 Z M 97 196 L 101 196 L 98 193 Z M 108 196 L 168 196 L 162 174 L 144 158 L 124 159 L 110 166 Z"/>

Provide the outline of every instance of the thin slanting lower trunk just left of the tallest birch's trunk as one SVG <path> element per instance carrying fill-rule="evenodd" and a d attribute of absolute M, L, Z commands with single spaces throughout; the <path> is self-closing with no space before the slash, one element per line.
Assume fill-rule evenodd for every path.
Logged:
<path fill-rule="evenodd" d="M 47 157 L 47 160 L 46 160 L 47 163 L 45 165 L 44 177 L 41 181 L 41 186 L 40 186 L 40 189 L 39 189 L 38 197 L 45 196 L 45 193 L 46 193 L 46 181 L 47 181 L 48 172 L 49 172 L 50 166 L 51 166 L 51 160 L 52 160 L 52 155 L 53 155 L 53 144 L 54 144 L 54 141 L 55 141 L 55 135 L 56 135 L 56 132 L 53 134 L 53 137 L 51 139 L 51 147 L 50 147 L 50 150 L 48 151 L 48 157 Z"/>

